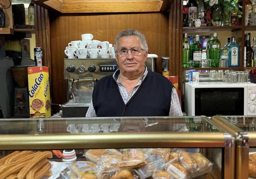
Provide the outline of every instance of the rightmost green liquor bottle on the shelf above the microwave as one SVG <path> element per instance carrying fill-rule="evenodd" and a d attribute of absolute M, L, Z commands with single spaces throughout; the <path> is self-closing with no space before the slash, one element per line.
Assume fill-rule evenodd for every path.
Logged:
<path fill-rule="evenodd" d="M 217 35 L 217 32 L 213 33 L 213 38 L 210 44 L 210 59 L 212 67 L 219 67 L 221 42 L 218 39 Z"/>

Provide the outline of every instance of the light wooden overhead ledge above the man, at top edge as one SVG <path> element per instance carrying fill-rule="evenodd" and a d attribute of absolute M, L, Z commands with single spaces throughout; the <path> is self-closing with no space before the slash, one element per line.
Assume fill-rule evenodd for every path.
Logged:
<path fill-rule="evenodd" d="M 170 9 L 172 2 L 173 0 L 34 0 L 37 5 L 61 13 L 159 12 Z"/>

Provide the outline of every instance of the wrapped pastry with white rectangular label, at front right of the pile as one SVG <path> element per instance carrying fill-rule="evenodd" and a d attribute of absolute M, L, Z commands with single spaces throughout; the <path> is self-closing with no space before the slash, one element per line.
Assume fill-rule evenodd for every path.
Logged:
<path fill-rule="evenodd" d="M 169 163 L 166 169 L 167 172 L 175 179 L 189 179 L 190 176 L 184 167 L 178 163 Z"/>

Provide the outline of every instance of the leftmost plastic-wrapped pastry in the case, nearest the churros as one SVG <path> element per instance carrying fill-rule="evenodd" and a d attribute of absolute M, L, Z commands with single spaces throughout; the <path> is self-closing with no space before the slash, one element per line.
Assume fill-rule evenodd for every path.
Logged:
<path fill-rule="evenodd" d="M 91 161 L 75 161 L 66 163 L 66 166 L 77 177 L 83 178 L 85 174 L 94 174 L 96 164 Z"/>

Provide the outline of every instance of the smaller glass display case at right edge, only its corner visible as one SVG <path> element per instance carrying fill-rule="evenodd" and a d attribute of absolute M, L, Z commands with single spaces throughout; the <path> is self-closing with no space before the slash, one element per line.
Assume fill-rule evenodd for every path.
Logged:
<path fill-rule="evenodd" d="M 235 178 L 251 178 L 249 155 L 256 153 L 256 116 L 213 116 L 211 120 L 235 137 Z"/>

